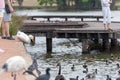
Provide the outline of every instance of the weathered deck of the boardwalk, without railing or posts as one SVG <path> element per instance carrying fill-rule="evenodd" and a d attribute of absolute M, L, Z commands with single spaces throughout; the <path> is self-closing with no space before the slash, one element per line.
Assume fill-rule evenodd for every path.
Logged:
<path fill-rule="evenodd" d="M 110 30 L 105 30 L 102 22 L 39 22 L 34 20 L 27 20 L 24 22 L 22 31 L 26 33 L 115 33 L 120 30 L 120 23 L 114 22 L 111 24 Z M 57 37 L 57 36 L 53 36 Z"/>

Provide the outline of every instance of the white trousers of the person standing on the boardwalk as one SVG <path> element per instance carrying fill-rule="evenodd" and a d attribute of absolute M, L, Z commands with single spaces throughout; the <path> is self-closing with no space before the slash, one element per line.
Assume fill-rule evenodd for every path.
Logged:
<path fill-rule="evenodd" d="M 103 12 L 103 23 L 108 24 L 111 23 L 111 12 L 110 7 L 102 7 Z"/>

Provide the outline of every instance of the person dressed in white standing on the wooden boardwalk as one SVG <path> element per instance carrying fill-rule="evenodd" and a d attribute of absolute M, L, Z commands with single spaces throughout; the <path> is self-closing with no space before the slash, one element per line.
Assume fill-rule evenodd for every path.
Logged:
<path fill-rule="evenodd" d="M 112 0 L 101 0 L 103 24 L 104 24 L 105 30 L 109 30 L 111 25 L 111 11 L 110 11 L 111 3 L 112 3 Z"/>

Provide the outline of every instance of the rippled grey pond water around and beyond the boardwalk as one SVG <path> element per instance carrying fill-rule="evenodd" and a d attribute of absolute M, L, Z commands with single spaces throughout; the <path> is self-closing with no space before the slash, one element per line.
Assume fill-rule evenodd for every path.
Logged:
<path fill-rule="evenodd" d="M 85 11 L 85 12 L 46 12 L 44 10 L 19 10 L 16 11 L 17 15 L 102 15 L 101 11 Z M 112 11 L 112 21 L 120 21 L 120 11 Z M 51 68 L 50 80 L 54 80 L 55 76 L 58 74 L 58 67 L 56 67 L 58 62 L 61 62 L 62 74 L 65 76 L 66 80 L 69 78 L 75 78 L 79 76 L 79 80 L 86 76 L 83 73 L 83 64 L 86 60 L 81 60 L 81 43 L 78 39 L 53 39 L 53 53 L 51 58 L 46 58 L 46 38 L 42 36 L 36 37 L 35 46 L 30 46 L 26 44 L 27 52 L 32 56 L 37 58 L 39 64 L 39 70 L 41 74 L 45 73 L 47 67 Z M 120 64 L 119 60 L 113 61 L 109 65 L 106 65 L 105 61 L 93 60 L 87 62 L 88 73 L 92 73 L 94 69 L 98 70 L 96 77 L 87 80 L 106 80 L 106 75 L 110 75 L 112 80 L 116 80 L 120 75 L 116 68 L 116 64 Z M 75 70 L 72 71 L 72 65 L 75 65 Z"/>

